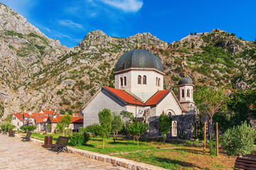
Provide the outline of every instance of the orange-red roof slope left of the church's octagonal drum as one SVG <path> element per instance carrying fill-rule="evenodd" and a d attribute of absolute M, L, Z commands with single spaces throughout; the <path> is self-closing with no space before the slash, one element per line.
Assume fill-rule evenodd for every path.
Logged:
<path fill-rule="evenodd" d="M 104 86 L 107 90 L 111 91 L 112 94 L 115 94 L 117 97 L 121 98 L 123 101 L 130 103 L 130 104 L 137 104 L 137 105 L 142 105 L 144 106 L 144 103 L 141 101 L 137 100 L 136 102 L 134 101 L 134 97 L 128 94 L 127 92 L 119 89 L 114 89 L 111 87 Z"/>

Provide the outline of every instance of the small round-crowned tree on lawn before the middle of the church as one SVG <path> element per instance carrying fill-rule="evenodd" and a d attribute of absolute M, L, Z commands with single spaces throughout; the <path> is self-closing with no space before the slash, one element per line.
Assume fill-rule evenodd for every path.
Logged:
<path fill-rule="evenodd" d="M 137 145 L 139 147 L 139 137 L 141 137 L 146 130 L 149 129 L 149 125 L 147 123 L 140 122 L 138 120 L 133 121 L 132 124 L 129 124 L 127 127 L 127 131 L 134 135 L 134 137 L 137 139 Z"/>

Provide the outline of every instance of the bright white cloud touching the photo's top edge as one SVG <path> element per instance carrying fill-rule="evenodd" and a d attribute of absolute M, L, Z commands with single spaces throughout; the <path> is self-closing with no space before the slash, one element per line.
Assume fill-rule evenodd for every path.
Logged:
<path fill-rule="evenodd" d="M 142 8 L 142 0 L 99 0 L 125 12 L 137 12 Z"/>

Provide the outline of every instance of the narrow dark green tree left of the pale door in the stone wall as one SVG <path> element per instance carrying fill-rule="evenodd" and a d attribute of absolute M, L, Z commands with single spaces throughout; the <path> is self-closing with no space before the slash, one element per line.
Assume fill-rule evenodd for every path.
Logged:
<path fill-rule="evenodd" d="M 164 111 L 159 116 L 159 130 L 163 134 L 163 144 L 165 144 L 166 134 L 170 132 L 171 129 L 171 115 L 165 115 Z"/>

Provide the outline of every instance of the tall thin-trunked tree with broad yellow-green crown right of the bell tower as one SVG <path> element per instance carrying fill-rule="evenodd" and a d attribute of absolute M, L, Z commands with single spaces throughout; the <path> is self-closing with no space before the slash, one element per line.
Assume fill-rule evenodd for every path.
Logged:
<path fill-rule="evenodd" d="M 228 111 L 228 97 L 224 95 L 223 89 L 214 89 L 211 86 L 203 87 L 194 94 L 194 101 L 200 114 L 208 115 L 210 119 L 210 142 L 213 115 L 218 112 Z M 210 147 L 211 149 L 211 147 Z"/>

